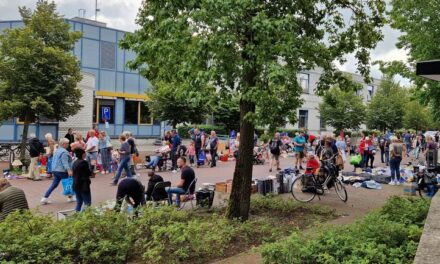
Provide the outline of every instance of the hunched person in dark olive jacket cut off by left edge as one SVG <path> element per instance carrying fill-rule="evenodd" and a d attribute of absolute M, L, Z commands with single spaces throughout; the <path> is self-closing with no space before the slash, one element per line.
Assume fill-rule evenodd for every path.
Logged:
<path fill-rule="evenodd" d="M 7 179 L 0 179 L 0 222 L 14 211 L 29 209 L 23 190 L 11 186 Z"/>

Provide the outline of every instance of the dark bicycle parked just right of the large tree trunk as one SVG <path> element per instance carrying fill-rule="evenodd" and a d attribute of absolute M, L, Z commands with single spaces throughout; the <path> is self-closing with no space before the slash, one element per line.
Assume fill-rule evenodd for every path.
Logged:
<path fill-rule="evenodd" d="M 334 187 L 336 194 L 339 199 L 344 203 L 348 200 L 347 190 L 341 179 L 338 177 L 338 169 L 335 164 L 330 161 L 335 158 L 332 157 L 327 160 L 323 160 L 321 164 L 321 172 L 325 175 L 324 182 L 320 182 L 318 177 L 314 174 L 303 174 L 296 178 L 292 183 L 292 196 L 295 200 L 300 202 L 310 202 L 316 195 L 324 195 L 325 191 Z M 307 170 L 312 170 L 312 168 L 307 168 Z"/>

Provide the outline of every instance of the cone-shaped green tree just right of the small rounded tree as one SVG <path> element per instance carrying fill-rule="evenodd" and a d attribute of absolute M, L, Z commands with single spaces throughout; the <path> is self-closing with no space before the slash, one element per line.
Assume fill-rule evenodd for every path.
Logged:
<path fill-rule="evenodd" d="M 370 129 L 392 131 L 403 127 L 403 115 L 408 91 L 385 77 L 367 107 L 367 126 Z"/>

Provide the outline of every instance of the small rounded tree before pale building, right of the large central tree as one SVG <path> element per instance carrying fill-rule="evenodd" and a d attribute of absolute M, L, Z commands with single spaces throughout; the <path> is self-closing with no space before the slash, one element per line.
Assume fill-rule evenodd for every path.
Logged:
<path fill-rule="evenodd" d="M 319 113 L 321 119 L 337 131 L 359 129 L 365 119 L 365 106 L 353 90 L 334 87 L 325 93 Z"/>

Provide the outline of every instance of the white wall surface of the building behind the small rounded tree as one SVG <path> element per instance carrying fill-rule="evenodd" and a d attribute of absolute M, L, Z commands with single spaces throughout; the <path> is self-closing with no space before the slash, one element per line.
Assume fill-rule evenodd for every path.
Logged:
<path fill-rule="evenodd" d="M 321 134 L 321 133 L 331 133 L 333 132 L 333 128 L 330 126 L 325 126 L 321 128 L 321 118 L 319 114 L 319 104 L 322 102 L 322 98 L 315 94 L 315 90 L 317 88 L 319 78 L 321 76 L 321 71 L 318 70 L 310 70 L 304 72 L 305 74 L 309 75 L 309 91 L 304 92 L 301 96 L 301 98 L 304 100 L 303 105 L 298 109 L 297 117 L 298 120 L 300 118 L 299 113 L 301 110 L 305 110 L 308 113 L 307 117 L 307 125 L 306 129 L 309 133 L 312 134 Z M 376 93 L 377 88 L 380 85 L 379 79 L 373 79 L 371 84 L 366 84 L 363 80 L 363 77 L 358 74 L 353 73 L 347 73 L 350 74 L 354 81 L 362 84 L 363 89 L 358 92 L 358 95 L 362 98 L 364 103 L 368 103 L 369 100 L 371 100 L 372 95 Z M 372 95 L 370 95 L 369 90 L 372 91 Z M 296 124 L 287 124 L 286 128 L 288 129 L 300 129 L 302 127 L 299 126 L 298 122 Z M 366 126 L 362 125 L 361 129 L 365 129 Z"/>

